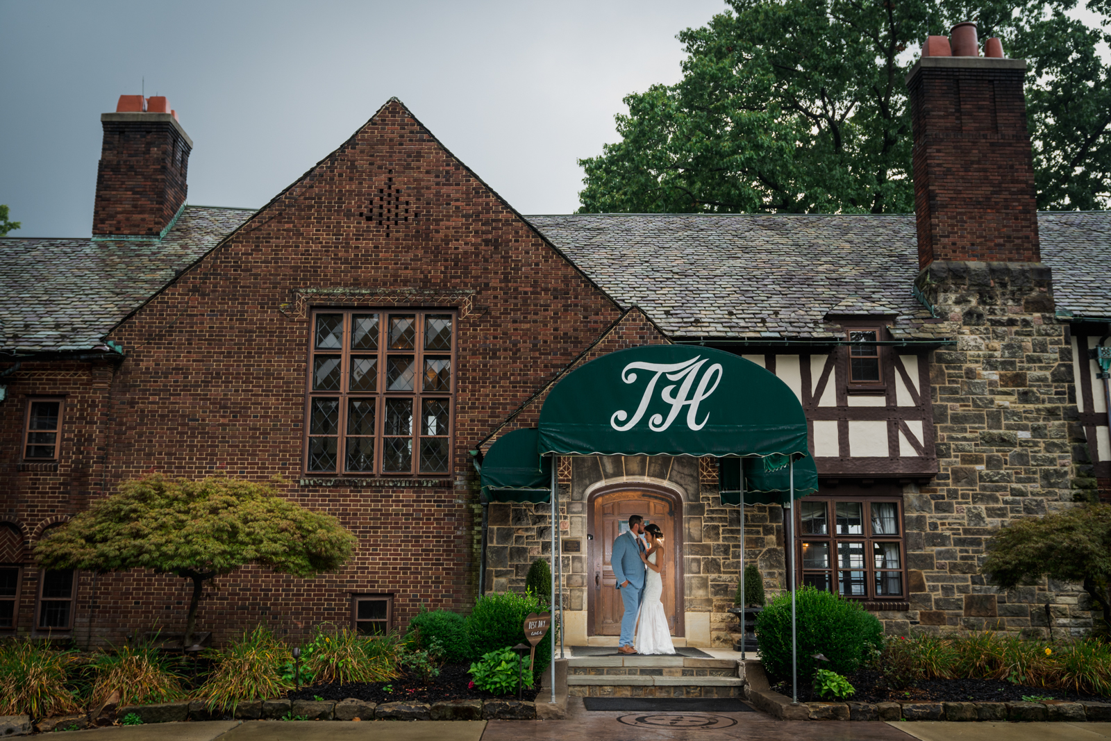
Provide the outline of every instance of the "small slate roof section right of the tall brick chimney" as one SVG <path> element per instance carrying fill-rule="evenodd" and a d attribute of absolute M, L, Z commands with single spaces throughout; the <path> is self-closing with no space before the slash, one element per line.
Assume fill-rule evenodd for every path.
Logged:
<path fill-rule="evenodd" d="M 1111 318 L 1111 212 L 1039 213 L 1038 233 L 1058 308 Z"/>

